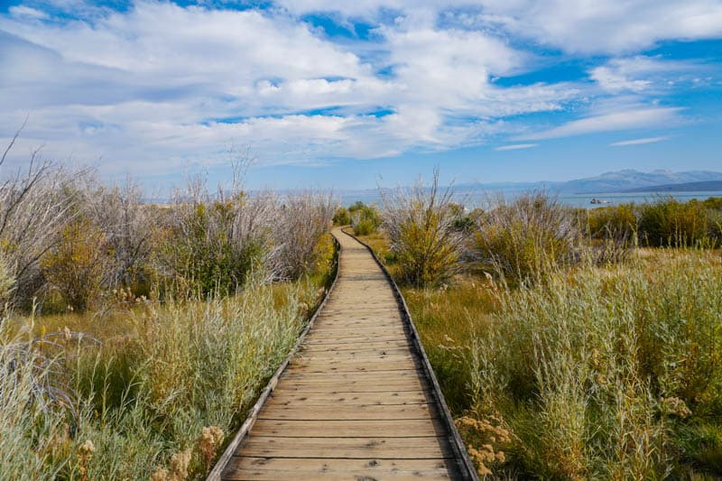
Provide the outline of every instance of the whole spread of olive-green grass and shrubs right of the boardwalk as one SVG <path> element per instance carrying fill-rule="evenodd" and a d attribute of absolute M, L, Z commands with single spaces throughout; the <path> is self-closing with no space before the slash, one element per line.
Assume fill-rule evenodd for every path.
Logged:
<path fill-rule="evenodd" d="M 463 273 L 403 285 L 480 475 L 722 476 L 720 208 L 532 194 L 477 212 Z M 362 239 L 403 283 L 390 241 Z"/>

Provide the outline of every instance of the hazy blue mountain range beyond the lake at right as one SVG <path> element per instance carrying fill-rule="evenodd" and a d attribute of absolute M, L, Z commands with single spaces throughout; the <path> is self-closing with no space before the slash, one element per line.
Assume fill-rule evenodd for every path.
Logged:
<path fill-rule="evenodd" d="M 461 189 L 520 190 L 544 189 L 567 194 L 604 194 L 611 192 L 671 192 L 722 190 L 722 172 L 717 171 L 651 171 L 631 169 L 606 172 L 584 179 L 540 182 L 499 182 L 464 184 Z"/>

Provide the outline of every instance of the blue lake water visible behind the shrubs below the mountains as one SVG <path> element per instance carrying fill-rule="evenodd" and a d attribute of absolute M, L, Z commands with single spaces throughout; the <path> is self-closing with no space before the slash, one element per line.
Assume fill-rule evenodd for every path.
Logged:
<path fill-rule="evenodd" d="M 498 190 L 489 191 L 477 188 L 463 188 L 458 189 L 454 196 L 454 199 L 461 204 L 464 204 L 468 208 L 482 207 L 488 205 L 489 201 L 494 201 L 499 194 L 504 195 L 504 199 L 513 200 L 514 197 L 520 195 L 522 192 L 519 190 L 500 192 Z M 630 192 L 609 192 L 603 194 L 554 194 L 561 203 L 582 208 L 597 208 L 603 206 L 615 206 L 618 204 L 626 204 L 629 202 L 645 202 L 659 199 L 660 197 L 673 197 L 680 201 L 687 201 L 690 199 L 708 199 L 710 197 L 722 197 L 722 190 L 715 191 L 703 191 L 703 192 L 643 192 L 643 193 L 630 193 Z M 598 199 L 603 204 L 592 204 L 592 199 Z M 361 200 L 365 204 L 380 203 L 381 196 L 378 190 L 355 190 L 341 192 L 341 203 L 348 207 L 356 200 Z"/>

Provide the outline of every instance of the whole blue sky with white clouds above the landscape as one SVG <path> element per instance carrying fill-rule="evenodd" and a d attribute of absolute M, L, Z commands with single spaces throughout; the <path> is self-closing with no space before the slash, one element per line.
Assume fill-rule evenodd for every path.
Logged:
<path fill-rule="evenodd" d="M 722 2 L 0 1 L 9 162 L 364 189 L 722 171 Z"/>

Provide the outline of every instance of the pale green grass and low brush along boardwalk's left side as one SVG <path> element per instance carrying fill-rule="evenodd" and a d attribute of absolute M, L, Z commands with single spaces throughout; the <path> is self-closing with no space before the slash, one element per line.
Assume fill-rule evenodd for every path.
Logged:
<path fill-rule="evenodd" d="M 199 449 L 203 429 L 232 435 L 294 345 L 318 292 L 301 283 L 286 295 L 281 307 L 270 286 L 226 300 L 145 301 L 126 313 L 124 336 L 102 346 L 60 336 L 65 348 L 53 350 L 41 371 L 33 359 L 48 347 L 29 347 L 21 360 L 11 356 L 18 338 L 4 338 L 0 368 L 23 367 L 0 380 L 0 478 L 80 479 L 85 471 L 88 479 L 147 479 L 171 472 L 174 456 L 199 478 L 222 448 L 217 439 Z M 40 399 L 37 385 L 53 391 Z M 94 452 L 82 461 L 87 440 Z"/>

